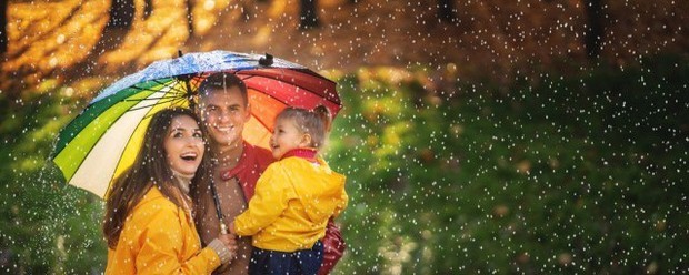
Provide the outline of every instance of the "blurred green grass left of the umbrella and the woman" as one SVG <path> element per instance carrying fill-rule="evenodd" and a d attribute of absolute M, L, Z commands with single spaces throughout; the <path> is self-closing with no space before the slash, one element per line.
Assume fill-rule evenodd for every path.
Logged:
<path fill-rule="evenodd" d="M 74 108 L 77 105 L 77 108 Z M 0 126 L 0 273 L 84 274 L 102 271 L 102 204 L 64 187 L 48 155 L 79 102 L 56 90 L 29 102 L 2 102 Z"/>

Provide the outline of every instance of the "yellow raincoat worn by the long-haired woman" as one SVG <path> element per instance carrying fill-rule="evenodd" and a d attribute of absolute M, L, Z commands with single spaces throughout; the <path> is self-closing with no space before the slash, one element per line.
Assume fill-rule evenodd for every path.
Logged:
<path fill-rule="evenodd" d="M 210 274 L 220 257 L 201 241 L 189 214 L 151 187 L 108 251 L 106 274 Z"/>

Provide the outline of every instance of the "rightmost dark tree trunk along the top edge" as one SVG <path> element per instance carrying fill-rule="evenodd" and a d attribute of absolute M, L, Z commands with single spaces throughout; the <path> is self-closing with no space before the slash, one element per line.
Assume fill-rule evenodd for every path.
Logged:
<path fill-rule="evenodd" d="M 583 35 L 583 44 L 589 59 L 596 59 L 600 54 L 600 41 L 603 37 L 603 11 L 601 0 L 587 0 L 585 2 L 585 12 L 588 19 L 588 26 Z"/>

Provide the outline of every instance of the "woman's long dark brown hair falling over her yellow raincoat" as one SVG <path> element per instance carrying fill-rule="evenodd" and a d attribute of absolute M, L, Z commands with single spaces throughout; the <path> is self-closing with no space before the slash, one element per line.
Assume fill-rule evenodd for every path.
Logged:
<path fill-rule="evenodd" d="M 156 113 L 148 125 L 143 144 L 133 165 L 114 181 L 112 189 L 108 192 L 106 221 L 103 222 L 103 234 L 108 241 L 108 247 L 114 248 L 117 246 L 127 216 L 152 186 L 158 187 L 177 206 L 183 207 L 182 191 L 173 180 L 163 146 L 172 120 L 180 115 L 192 118 L 199 125 L 201 123 L 197 114 L 190 109 L 166 109 Z M 192 186 L 202 181 L 201 177 L 210 174 L 207 156 L 208 146 L 206 146 L 201 164 L 191 182 Z"/>

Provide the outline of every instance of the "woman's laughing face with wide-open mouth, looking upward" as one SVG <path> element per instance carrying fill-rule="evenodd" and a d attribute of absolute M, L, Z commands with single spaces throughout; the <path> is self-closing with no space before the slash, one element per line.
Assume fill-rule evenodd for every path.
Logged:
<path fill-rule="evenodd" d="M 189 115 L 172 119 L 163 141 L 166 159 L 170 167 L 180 174 L 197 172 L 203 159 L 203 136 L 196 120 Z"/>

